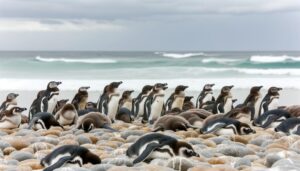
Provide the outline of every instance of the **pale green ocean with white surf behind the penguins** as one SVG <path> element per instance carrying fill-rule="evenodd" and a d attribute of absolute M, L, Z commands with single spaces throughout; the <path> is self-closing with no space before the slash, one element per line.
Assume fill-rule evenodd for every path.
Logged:
<path fill-rule="evenodd" d="M 215 83 L 215 90 L 234 85 L 243 96 L 255 85 L 300 94 L 300 51 L 2 51 L 0 60 L 1 98 L 9 91 L 44 89 L 50 80 L 62 81 L 60 89 L 66 92 L 89 85 L 100 93 L 107 83 L 122 80 L 123 90 L 167 82 L 170 91 L 184 84 L 196 95 L 204 84 Z M 288 104 L 300 101 L 299 96 L 283 98 Z"/>

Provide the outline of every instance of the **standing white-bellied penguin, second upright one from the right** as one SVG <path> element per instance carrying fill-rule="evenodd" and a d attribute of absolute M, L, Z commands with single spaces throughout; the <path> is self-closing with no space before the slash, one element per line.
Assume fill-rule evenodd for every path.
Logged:
<path fill-rule="evenodd" d="M 259 116 L 259 106 L 261 101 L 260 90 L 263 86 L 254 86 L 250 89 L 250 93 L 245 99 L 243 106 L 251 108 L 251 120 L 256 119 Z"/>

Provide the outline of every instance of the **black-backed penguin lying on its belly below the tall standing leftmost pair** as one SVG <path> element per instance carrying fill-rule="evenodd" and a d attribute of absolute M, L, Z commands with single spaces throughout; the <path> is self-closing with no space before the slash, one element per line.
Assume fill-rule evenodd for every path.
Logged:
<path fill-rule="evenodd" d="M 39 112 L 30 120 L 28 129 L 50 129 L 51 126 L 58 126 L 64 129 L 54 118 L 54 115 L 48 112 Z"/>

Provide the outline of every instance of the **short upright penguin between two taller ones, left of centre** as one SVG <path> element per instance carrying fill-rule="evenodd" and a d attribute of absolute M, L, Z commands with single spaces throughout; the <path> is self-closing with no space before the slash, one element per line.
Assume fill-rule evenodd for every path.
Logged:
<path fill-rule="evenodd" d="M 132 108 L 134 106 L 131 97 L 132 92 L 133 90 L 127 90 L 123 92 L 122 97 L 119 100 L 119 110 L 116 115 L 116 120 L 121 120 L 126 123 L 131 123 L 133 120 Z"/>

